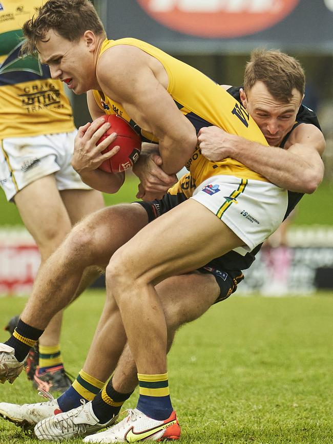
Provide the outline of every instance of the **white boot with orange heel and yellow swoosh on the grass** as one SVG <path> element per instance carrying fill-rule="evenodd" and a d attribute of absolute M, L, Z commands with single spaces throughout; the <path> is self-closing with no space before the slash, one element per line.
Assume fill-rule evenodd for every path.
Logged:
<path fill-rule="evenodd" d="M 153 441 L 179 439 L 180 427 L 175 411 L 164 421 L 152 419 L 138 409 L 129 409 L 128 412 L 128 416 L 118 422 L 118 424 L 105 432 L 87 436 L 84 442 L 135 442 L 145 441 L 146 439 Z"/>

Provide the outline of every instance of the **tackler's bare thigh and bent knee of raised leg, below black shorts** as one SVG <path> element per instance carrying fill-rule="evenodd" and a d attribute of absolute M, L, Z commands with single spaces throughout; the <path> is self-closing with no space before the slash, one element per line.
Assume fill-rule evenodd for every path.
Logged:
<path fill-rule="evenodd" d="M 113 205 L 75 225 L 65 245 L 70 251 L 91 255 L 95 265 L 105 268 L 113 253 L 147 224 L 148 215 L 141 205 Z"/>

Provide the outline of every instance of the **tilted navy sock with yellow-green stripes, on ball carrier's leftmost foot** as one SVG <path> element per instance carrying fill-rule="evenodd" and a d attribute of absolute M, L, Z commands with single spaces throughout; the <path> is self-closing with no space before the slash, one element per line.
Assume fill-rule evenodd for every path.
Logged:
<path fill-rule="evenodd" d="M 79 407 L 81 399 L 91 401 L 104 385 L 105 382 L 94 378 L 84 370 L 80 370 L 72 386 L 57 399 L 58 405 L 63 412 Z"/>

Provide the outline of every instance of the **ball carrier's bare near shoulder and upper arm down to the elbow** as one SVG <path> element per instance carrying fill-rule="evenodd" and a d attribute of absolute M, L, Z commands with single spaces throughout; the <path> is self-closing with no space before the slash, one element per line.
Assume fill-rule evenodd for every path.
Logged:
<path fill-rule="evenodd" d="M 163 171 L 179 171 L 191 157 L 197 137 L 166 91 L 160 62 L 138 48 L 120 45 L 102 54 L 96 73 L 102 91 L 158 139 Z"/>

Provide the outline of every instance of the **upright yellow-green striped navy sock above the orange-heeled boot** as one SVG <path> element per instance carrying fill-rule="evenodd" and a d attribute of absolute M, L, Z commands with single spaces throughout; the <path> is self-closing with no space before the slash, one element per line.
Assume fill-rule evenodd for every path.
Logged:
<path fill-rule="evenodd" d="M 160 421 L 169 418 L 173 408 L 170 399 L 168 373 L 143 375 L 138 373 L 139 400 L 136 408 L 140 412 Z"/>

